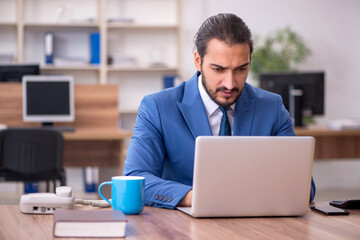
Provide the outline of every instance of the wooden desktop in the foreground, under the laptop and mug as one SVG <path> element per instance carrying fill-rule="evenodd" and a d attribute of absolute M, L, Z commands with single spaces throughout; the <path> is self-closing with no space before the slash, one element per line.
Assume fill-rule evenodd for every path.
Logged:
<path fill-rule="evenodd" d="M 17 205 L 0 205 L 0 212 L 1 239 L 53 238 L 52 215 L 22 214 Z M 195 219 L 177 210 L 145 207 L 127 219 L 126 239 L 360 239 L 360 210 L 349 216 L 309 211 L 304 217 Z"/>

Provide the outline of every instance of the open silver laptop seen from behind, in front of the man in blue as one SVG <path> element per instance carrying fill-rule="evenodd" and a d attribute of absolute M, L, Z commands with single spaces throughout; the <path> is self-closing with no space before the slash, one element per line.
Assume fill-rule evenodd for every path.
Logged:
<path fill-rule="evenodd" d="M 309 210 L 313 137 L 200 136 L 193 217 L 300 216 Z"/>

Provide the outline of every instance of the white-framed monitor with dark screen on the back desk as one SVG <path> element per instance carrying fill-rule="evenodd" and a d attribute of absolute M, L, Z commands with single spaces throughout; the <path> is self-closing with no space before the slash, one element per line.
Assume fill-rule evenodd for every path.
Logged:
<path fill-rule="evenodd" d="M 24 76 L 23 120 L 41 122 L 73 122 L 74 79 L 72 76 Z"/>

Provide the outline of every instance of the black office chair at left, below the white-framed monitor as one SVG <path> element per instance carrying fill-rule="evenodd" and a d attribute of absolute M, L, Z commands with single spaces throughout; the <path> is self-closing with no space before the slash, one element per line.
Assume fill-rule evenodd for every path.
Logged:
<path fill-rule="evenodd" d="M 63 164 L 64 139 L 60 132 L 41 128 L 9 128 L 0 131 L 0 179 L 3 181 L 53 181 L 66 185 Z"/>

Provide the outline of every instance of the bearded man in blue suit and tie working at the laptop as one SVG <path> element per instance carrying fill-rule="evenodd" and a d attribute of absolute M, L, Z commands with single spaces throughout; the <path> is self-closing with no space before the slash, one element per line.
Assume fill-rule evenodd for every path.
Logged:
<path fill-rule="evenodd" d="M 144 97 L 138 108 L 124 175 L 145 177 L 149 206 L 191 206 L 198 136 L 295 135 L 281 97 L 246 83 L 253 41 L 239 17 L 208 18 L 195 46 L 198 72 L 175 88 Z M 310 201 L 314 195 L 312 182 Z"/>

